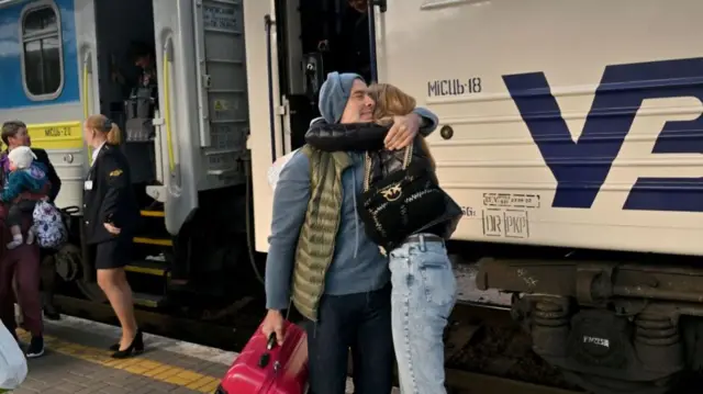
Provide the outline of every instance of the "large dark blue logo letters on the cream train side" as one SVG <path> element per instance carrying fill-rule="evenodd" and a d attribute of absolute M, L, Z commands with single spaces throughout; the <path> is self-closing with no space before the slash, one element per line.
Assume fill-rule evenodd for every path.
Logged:
<path fill-rule="evenodd" d="M 577 140 L 571 137 L 544 72 L 506 75 L 503 81 L 557 180 L 553 206 L 589 209 L 645 100 L 690 97 L 703 102 L 703 58 L 605 67 Z M 442 88 L 456 89 L 450 85 Z M 703 116 L 666 122 L 652 149 L 652 154 L 701 153 Z M 703 212 L 703 178 L 640 177 L 623 209 Z"/>

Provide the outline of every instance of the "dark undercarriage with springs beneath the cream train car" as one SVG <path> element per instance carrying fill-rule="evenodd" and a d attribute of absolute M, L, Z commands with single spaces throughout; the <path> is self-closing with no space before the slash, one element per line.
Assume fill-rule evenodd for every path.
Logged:
<path fill-rule="evenodd" d="M 596 394 L 667 393 L 703 370 L 703 270 L 604 260 L 482 259 L 533 350 Z"/>

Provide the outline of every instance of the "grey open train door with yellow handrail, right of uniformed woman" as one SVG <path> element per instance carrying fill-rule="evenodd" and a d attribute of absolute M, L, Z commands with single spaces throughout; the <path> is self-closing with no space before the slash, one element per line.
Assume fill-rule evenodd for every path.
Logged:
<path fill-rule="evenodd" d="M 158 76 L 157 157 L 164 187 L 149 194 L 164 202 L 166 228 L 177 235 L 198 207 L 200 113 L 196 80 L 194 2 L 153 0 Z M 157 165 L 157 168 L 159 166 Z M 158 195 L 160 194 L 160 195 Z"/>

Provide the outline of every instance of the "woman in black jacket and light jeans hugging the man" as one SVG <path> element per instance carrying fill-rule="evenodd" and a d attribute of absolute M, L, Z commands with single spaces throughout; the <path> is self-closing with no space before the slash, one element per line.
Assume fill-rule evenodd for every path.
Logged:
<path fill-rule="evenodd" d="M 446 394 L 443 333 L 456 302 L 456 279 L 445 240 L 461 211 L 439 188 L 424 137 L 416 136 L 406 149 L 383 147 L 388 127 L 395 116 L 411 113 L 415 100 L 391 85 L 371 86 L 369 95 L 373 123 L 320 124 L 305 139 L 321 150 L 366 151 L 358 211 L 367 235 L 390 257 L 401 393 Z"/>

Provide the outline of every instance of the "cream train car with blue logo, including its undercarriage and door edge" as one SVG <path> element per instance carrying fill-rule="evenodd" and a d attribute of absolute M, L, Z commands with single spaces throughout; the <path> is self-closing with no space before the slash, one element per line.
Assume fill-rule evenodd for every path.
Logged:
<path fill-rule="evenodd" d="M 505 292 L 492 302 L 512 305 L 534 349 L 595 393 L 663 393 L 700 369 L 703 2 L 372 3 L 379 80 L 439 116 L 428 143 L 465 216 L 451 249 L 487 258 L 477 286 Z M 299 133 L 290 65 L 311 27 L 298 10 L 245 7 L 249 83 L 272 81 L 275 101 L 249 91 L 257 223 L 271 147 Z M 257 226 L 258 250 L 268 234 Z"/>

